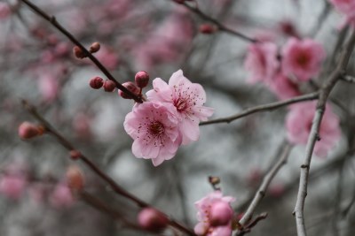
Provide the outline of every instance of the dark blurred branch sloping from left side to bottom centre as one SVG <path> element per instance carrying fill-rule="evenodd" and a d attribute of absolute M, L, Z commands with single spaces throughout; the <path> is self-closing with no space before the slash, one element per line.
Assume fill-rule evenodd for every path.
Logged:
<path fill-rule="evenodd" d="M 31 105 L 26 100 L 22 100 L 22 104 L 24 105 L 25 109 L 28 110 L 28 112 L 43 125 L 45 131 L 47 133 L 50 133 L 52 136 L 54 136 L 64 148 L 67 148 L 68 151 L 77 150 L 74 147 L 74 145 L 71 144 L 70 141 L 67 141 L 67 139 L 64 136 L 62 136 L 56 129 L 54 129 L 53 126 L 51 126 L 51 124 L 37 112 L 35 106 Z M 111 177 L 109 177 L 104 171 L 101 171 L 99 167 L 96 164 L 92 163 L 88 157 L 83 155 L 83 153 L 80 153 L 79 159 L 82 160 L 83 163 L 86 164 L 91 169 L 91 171 L 95 172 L 99 176 L 99 178 L 103 179 L 114 190 L 116 194 L 120 194 L 123 197 L 129 199 L 131 202 L 135 202 L 141 208 L 147 208 L 147 207 L 153 208 L 153 206 L 140 200 L 138 197 L 136 197 L 133 194 L 130 194 L 128 191 L 126 191 L 121 186 L 119 186 L 114 181 L 114 179 L 111 179 Z M 177 228 L 177 230 L 181 232 L 185 232 L 187 235 L 195 236 L 192 230 L 188 229 L 184 225 L 181 225 L 176 220 L 168 217 L 159 209 L 157 210 L 169 219 L 170 226 Z"/>

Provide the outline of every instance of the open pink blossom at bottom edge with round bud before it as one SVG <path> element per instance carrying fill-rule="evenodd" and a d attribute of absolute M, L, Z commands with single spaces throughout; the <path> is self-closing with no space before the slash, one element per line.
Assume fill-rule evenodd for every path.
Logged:
<path fill-rule="evenodd" d="M 200 222 L 195 225 L 194 232 L 203 236 L 230 236 L 233 219 L 231 202 L 234 202 L 234 198 L 223 196 L 220 191 L 215 191 L 195 202 L 195 207 L 198 210 L 197 219 Z M 225 208 L 225 206 L 228 208 Z M 217 214 L 212 212 L 215 208 L 219 209 Z M 221 211 L 221 209 L 223 210 Z M 221 220 L 217 220 L 216 217 L 221 217 Z M 216 223 L 223 224 L 218 225 Z"/>

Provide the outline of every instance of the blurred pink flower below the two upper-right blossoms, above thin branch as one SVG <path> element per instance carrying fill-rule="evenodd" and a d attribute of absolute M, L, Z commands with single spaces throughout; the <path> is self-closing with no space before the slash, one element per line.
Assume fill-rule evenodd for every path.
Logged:
<path fill-rule="evenodd" d="M 270 80 L 267 86 L 280 100 L 301 95 L 297 84 L 282 73 L 279 73 L 273 80 Z"/>

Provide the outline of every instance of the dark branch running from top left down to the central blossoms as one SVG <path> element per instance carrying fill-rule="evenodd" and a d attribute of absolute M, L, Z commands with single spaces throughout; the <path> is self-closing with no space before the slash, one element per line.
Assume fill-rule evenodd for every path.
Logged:
<path fill-rule="evenodd" d="M 75 36 L 73 34 L 70 34 L 67 29 L 63 26 L 61 26 L 59 24 L 59 22 L 57 21 L 57 19 L 54 16 L 50 16 L 48 15 L 45 11 L 43 11 L 41 8 L 39 8 L 38 6 L 36 6 L 36 4 L 31 3 L 28 0 L 21 0 L 24 4 L 27 4 L 29 8 L 31 8 L 33 11 L 35 11 L 39 16 L 41 16 L 43 19 L 46 19 L 47 21 L 49 21 L 51 23 L 51 25 L 53 27 L 56 27 L 60 33 L 64 34 L 67 36 L 67 38 L 73 42 L 76 46 L 78 46 L 80 49 L 83 50 L 84 55 L 89 57 L 91 59 L 91 61 L 98 66 L 99 70 L 101 72 L 103 72 L 107 79 L 109 80 L 113 80 L 114 84 L 116 86 L 116 88 L 119 88 L 120 90 L 122 90 L 124 93 L 130 95 L 137 103 L 143 103 L 143 100 L 141 97 L 139 97 L 138 95 L 133 94 L 132 92 L 130 92 L 130 90 L 128 90 L 127 88 L 125 88 L 124 86 L 122 86 L 121 83 L 119 83 L 117 80 L 114 79 L 114 76 L 108 72 L 108 70 L 106 69 L 106 67 L 104 65 L 102 65 L 99 60 L 94 57 L 91 52 L 88 49 L 85 49 L 85 47 L 83 46 L 83 44 L 81 42 L 79 42 Z"/>

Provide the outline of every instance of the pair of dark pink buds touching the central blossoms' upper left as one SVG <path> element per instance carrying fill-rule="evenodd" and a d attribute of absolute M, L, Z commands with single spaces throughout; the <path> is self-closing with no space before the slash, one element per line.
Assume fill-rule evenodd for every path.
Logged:
<path fill-rule="evenodd" d="M 138 72 L 134 77 L 134 81 L 135 83 L 130 81 L 122 83 L 122 86 L 127 88 L 132 94 L 140 96 L 142 95 L 142 89 L 146 88 L 149 83 L 149 74 L 144 71 Z M 118 90 L 118 95 L 122 96 L 124 99 L 132 99 L 130 95 L 127 95 L 122 90 Z"/>

